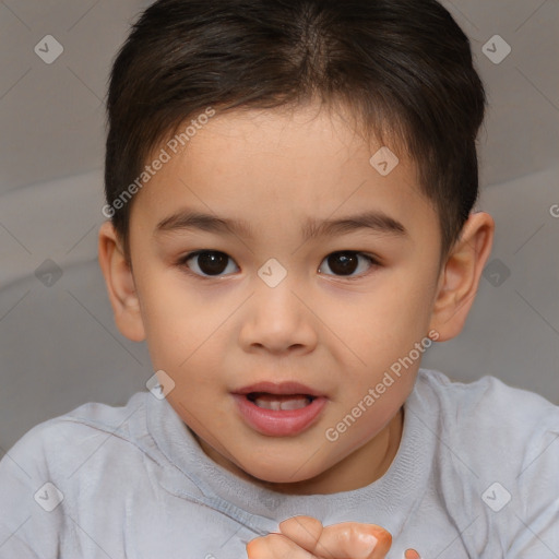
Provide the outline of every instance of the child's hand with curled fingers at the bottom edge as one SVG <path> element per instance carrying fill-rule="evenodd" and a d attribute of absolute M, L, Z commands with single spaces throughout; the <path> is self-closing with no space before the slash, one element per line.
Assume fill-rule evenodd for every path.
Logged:
<path fill-rule="evenodd" d="M 294 516 L 280 524 L 280 534 L 252 539 L 249 559 L 383 559 L 392 536 L 376 524 L 342 522 L 323 527 L 311 516 Z M 420 559 L 408 549 L 406 559 Z"/>

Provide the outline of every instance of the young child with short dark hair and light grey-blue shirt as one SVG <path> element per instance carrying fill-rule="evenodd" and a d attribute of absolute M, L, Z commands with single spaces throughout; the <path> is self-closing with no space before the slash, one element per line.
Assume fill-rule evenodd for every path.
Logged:
<path fill-rule="evenodd" d="M 9 451 L 0 557 L 559 557 L 559 408 L 419 368 L 491 249 L 484 108 L 435 0 L 148 8 L 99 263 L 157 373 Z"/>

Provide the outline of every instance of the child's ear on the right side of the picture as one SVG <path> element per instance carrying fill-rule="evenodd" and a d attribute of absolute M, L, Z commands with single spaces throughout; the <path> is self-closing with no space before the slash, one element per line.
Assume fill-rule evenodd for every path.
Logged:
<path fill-rule="evenodd" d="M 439 333 L 437 342 L 459 335 L 491 252 L 495 222 L 485 213 L 472 213 L 452 247 L 439 276 L 430 329 Z"/>

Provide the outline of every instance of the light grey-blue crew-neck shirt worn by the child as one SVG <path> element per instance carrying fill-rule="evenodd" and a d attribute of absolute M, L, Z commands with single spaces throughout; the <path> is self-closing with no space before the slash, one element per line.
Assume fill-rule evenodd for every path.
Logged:
<path fill-rule="evenodd" d="M 215 464 L 166 400 L 85 404 L 0 462 L 1 559 L 239 559 L 297 514 L 391 532 L 388 557 L 559 557 L 559 407 L 420 369 L 399 452 L 361 489 L 285 496 Z"/>

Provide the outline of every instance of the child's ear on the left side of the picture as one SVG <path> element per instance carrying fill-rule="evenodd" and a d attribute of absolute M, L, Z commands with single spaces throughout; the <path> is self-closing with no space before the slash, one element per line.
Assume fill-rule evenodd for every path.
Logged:
<path fill-rule="evenodd" d="M 105 222 L 99 229 L 98 259 L 118 329 L 132 342 L 142 342 L 145 330 L 134 277 L 110 222 Z"/>

